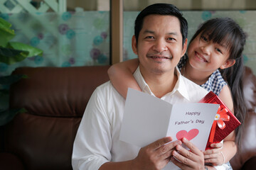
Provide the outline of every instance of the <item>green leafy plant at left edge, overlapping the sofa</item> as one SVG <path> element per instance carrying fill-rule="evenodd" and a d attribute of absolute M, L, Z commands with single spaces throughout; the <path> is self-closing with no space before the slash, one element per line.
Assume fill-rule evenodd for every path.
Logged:
<path fill-rule="evenodd" d="M 43 51 L 26 45 L 21 42 L 11 42 L 14 38 L 14 30 L 11 29 L 11 23 L 0 18 L 0 62 L 14 64 L 21 62 L 27 57 L 43 55 Z M 9 123 L 17 113 L 24 111 L 21 109 L 9 109 L 9 85 L 26 78 L 26 75 L 9 75 L 0 77 L 0 126 Z"/>

